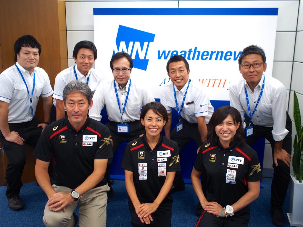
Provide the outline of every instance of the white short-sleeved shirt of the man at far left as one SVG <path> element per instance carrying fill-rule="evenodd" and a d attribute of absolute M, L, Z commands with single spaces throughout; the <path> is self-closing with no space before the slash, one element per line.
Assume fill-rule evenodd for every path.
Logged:
<path fill-rule="evenodd" d="M 18 62 L 16 65 L 20 69 L 30 96 L 32 96 L 34 73 L 35 89 L 32 96 L 32 108 L 35 116 L 37 103 L 40 95 L 48 97 L 53 94 L 52 86 L 44 69 L 35 67 L 32 74 L 29 74 Z M 33 116 L 30 110 L 30 98 L 22 80 L 22 77 L 15 65 L 9 67 L 0 74 L 0 100 L 9 103 L 8 105 L 8 122 L 21 123 L 32 120 Z"/>

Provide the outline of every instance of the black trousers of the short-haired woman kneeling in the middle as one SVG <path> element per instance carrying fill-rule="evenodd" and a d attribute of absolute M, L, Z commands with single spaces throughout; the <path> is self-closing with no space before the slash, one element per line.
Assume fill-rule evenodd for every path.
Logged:
<path fill-rule="evenodd" d="M 171 209 L 158 208 L 151 214 L 153 219 L 151 223 L 146 225 L 140 221 L 132 201 L 128 200 L 128 208 L 131 212 L 133 227 L 171 227 Z"/>

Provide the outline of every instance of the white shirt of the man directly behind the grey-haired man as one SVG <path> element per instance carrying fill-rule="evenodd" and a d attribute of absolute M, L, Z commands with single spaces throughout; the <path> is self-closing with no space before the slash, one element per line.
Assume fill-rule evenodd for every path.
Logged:
<path fill-rule="evenodd" d="M 75 67 L 76 74 L 78 77 L 78 80 L 84 82 L 86 84 L 87 78 L 89 77 L 88 80 L 88 87 L 92 90 L 92 93 L 94 94 L 95 90 L 97 89 L 98 84 L 101 82 L 101 72 L 91 68 L 88 71 L 88 74 L 84 76 L 79 70 L 76 65 Z M 58 73 L 55 79 L 55 86 L 54 86 L 54 94 L 53 94 L 53 103 L 56 106 L 56 101 L 55 99 L 63 100 L 63 90 L 65 86 L 71 82 L 76 80 L 75 77 L 75 72 L 74 72 L 74 66 L 68 67 L 67 69 L 61 71 Z"/>

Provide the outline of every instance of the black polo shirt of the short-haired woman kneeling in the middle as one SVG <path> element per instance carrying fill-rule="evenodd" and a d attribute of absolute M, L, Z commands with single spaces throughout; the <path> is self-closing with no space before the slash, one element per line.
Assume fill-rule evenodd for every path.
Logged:
<path fill-rule="evenodd" d="M 139 201 L 152 203 L 159 195 L 166 173 L 181 171 L 178 144 L 161 135 L 157 146 L 151 150 L 144 135 L 127 144 L 121 168 L 134 173 Z M 171 209 L 172 201 L 169 192 L 159 207 Z"/>

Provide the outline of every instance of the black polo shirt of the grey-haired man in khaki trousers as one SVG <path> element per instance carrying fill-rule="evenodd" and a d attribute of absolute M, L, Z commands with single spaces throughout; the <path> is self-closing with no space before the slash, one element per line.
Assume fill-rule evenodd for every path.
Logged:
<path fill-rule="evenodd" d="M 113 156 L 110 133 L 90 118 L 77 132 L 65 117 L 45 127 L 33 155 L 45 162 L 53 158 L 56 185 L 75 189 L 92 174 L 95 159 Z M 105 184 L 102 179 L 95 187 Z"/>

